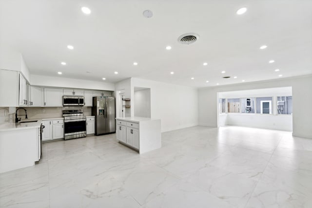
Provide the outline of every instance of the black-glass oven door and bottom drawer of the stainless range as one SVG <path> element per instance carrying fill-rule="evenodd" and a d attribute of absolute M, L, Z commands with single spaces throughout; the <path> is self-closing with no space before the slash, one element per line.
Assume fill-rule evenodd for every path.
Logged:
<path fill-rule="evenodd" d="M 72 120 L 64 122 L 65 139 L 83 137 L 86 134 L 86 120 Z M 76 135 L 76 136 L 75 136 Z"/>

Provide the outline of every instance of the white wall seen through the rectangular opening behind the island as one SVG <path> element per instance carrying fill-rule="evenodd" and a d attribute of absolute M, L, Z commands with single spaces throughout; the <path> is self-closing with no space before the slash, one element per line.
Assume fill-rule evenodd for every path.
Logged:
<path fill-rule="evenodd" d="M 135 91 L 135 116 L 151 117 L 151 89 Z"/>

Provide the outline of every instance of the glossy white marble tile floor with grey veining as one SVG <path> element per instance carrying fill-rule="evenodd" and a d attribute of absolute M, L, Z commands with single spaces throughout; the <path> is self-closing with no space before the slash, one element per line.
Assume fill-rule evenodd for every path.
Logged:
<path fill-rule="evenodd" d="M 115 134 L 43 144 L 39 164 L 0 174 L 5 208 L 311 208 L 312 139 L 196 126 L 139 155 Z"/>

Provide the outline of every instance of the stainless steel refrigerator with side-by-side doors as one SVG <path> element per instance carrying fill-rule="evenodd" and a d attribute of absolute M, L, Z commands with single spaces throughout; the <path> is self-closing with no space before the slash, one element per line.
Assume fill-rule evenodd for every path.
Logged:
<path fill-rule="evenodd" d="M 115 97 L 93 97 L 92 115 L 96 119 L 96 135 L 114 133 L 115 127 Z"/>

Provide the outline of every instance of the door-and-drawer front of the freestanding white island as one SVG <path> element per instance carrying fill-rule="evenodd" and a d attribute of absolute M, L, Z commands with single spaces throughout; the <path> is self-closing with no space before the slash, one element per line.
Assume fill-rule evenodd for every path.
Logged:
<path fill-rule="evenodd" d="M 138 128 L 138 123 L 117 120 L 117 140 L 139 150 L 140 138 Z"/>

